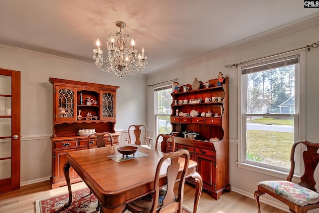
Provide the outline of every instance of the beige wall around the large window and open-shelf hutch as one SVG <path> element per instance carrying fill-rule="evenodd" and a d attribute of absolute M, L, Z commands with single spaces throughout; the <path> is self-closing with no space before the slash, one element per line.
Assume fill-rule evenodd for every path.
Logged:
<path fill-rule="evenodd" d="M 267 41 L 255 40 L 251 44 L 246 42 L 245 47 L 237 47 L 236 49 L 229 47 L 231 50 L 228 49 L 219 51 L 214 55 L 203 56 L 194 60 L 193 63 L 188 63 L 186 66 L 175 66 L 174 68 L 167 68 L 162 72 L 150 74 L 147 77 L 147 83 L 153 84 L 178 77 L 179 85 L 184 85 L 192 84 L 195 77 L 203 82 L 217 78 L 218 72 L 223 72 L 224 76 L 229 76 L 230 185 L 233 191 L 253 198 L 253 193 L 257 189 L 258 182 L 278 178 L 237 167 L 237 122 L 240 116 L 237 113 L 238 74 L 237 68 L 226 69 L 223 66 L 304 47 L 307 44 L 318 42 L 318 36 L 319 25 L 274 39 L 264 36 L 263 39 Z M 312 48 L 310 52 L 307 51 L 306 58 L 306 140 L 319 143 L 319 48 Z M 149 109 L 154 108 L 154 91 L 151 88 L 147 90 L 147 106 Z M 155 123 L 154 115 L 151 111 L 148 112 L 147 122 L 148 126 L 152 126 Z M 264 197 L 267 198 L 267 196 L 263 196 L 261 197 L 261 201 L 263 201 Z M 276 206 L 283 207 L 283 205 L 279 205 L 278 203 L 276 203 Z"/>

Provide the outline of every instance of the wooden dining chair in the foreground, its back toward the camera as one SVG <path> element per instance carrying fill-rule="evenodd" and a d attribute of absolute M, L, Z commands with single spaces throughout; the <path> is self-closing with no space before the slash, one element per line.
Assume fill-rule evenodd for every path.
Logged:
<path fill-rule="evenodd" d="M 183 171 L 178 182 L 178 194 L 174 193 L 174 184 L 177 179 L 179 165 L 178 159 L 184 157 Z M 170 161 L 167 161 L 170 159 Z M 160 187 L 160 170 L 163 165 L 167 166 L 165 187 Z M 187 150 L 179 150 L 170 152 L 161 157 L 154 181 L 154 193 L 148 194 L 142 198 L 134 200 L 126 205 L 126 209 L 132 213 L 182 213 L 183 208 L 183 192 L 186 178 L 186 172 L 189 164 L 189 152 Z M 165 188 L 165 189 L 164 189 Z"/>

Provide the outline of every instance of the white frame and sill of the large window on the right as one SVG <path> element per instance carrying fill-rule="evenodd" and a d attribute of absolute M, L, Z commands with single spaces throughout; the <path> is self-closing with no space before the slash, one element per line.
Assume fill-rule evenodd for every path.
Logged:
<path fill-rule="evenodd" d="M 298 50 L 289 53 L 280 54 L 278 56 L 273 56 L 265 59 L 260 59 L 256 61 L 252 61 L 249 63 L 238 65 L 238 162 L 237 165 L 239 168 L 247 169 L 250 171 L 271 175 L 278 178 L 287 178 L 287 172 L 276 170 L 276 169 L 269 169 L 265 168 L 260 165 L 253 165 L 250 163 L 244 162 L 246 158 L 246 126 L 244 125 L 244 115 L 243 112 L 246 107 L 243 98 L 246 97 L 246 85 L 243 85 L 242 80 L 242 67 L 249 66 L 256 63 L 266 63 L 270 60 L 275 60 L 283 57 L 288 57 L 291 55 L 299 54 L 299 70 L 295 73 L 295 112 L 297 116 L 295 116 L 295 122 L 297 121 L 298 124 L 295 126 L 295 141 L 298 140 L 305 140 L 306 138 L 306 50 Z M 276 116 L 276 115 L 275 115 Z M 246 118 L 246 117 L 245 117 Z M 298 127 L 298 129 L 296 129 Z M 299 154 L 302 153 L 300 150 Z M 295 159 L 296 161 L 296 169 L 295 169 L 295 176 L 299 176 L 304 172 L 304 168 L 300 167 L 300 161 L 302 156 L 298 155 L 299 157 Z"/>

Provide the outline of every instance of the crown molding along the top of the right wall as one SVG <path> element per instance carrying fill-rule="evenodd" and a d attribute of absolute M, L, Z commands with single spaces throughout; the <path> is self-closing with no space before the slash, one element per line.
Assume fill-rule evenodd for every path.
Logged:
<path fill-rule="evenodd" d="M 160 68 L 158 70 L 152 71 L 147 76 L 156 76 L 160 75 L 166 72 L 170 72 L 171 70 L 183 68 L 192 64 L 196 64 L 201 61 L 205 61 L 211 58 L 214 58 L 216 56 L 221 56 L 224 54 L 229 54 L 231 52 L 237 51 L 239 49 L 243 49 L 249 46 L 253 46 L 259 43 L 263 43 L 266 41 L 270 41 L 285 35 L 289 35 L 301 30 L 305 30 L 314 26 L 319 25 L 319 13 L 312 15 L 310 17 L 292 22 L 290 24 L 285 24 L 284 26 L 274 28 L 272 30 L 268 30 L 267 32 L 260 33 L 258 35 L 246 38 L 244 40 L 225 45 L 223 47 L 217 48 L 207 54 L 201 55 L 199 57 L 187 60 L 187 61 L 181 61 L 178 63 L 175 63 L 173 65 L 169 65 L 163 68 Z"/>

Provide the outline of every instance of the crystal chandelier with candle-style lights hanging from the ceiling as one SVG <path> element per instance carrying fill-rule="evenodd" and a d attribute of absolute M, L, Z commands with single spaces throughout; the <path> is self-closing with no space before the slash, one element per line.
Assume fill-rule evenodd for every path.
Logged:
<path fill-rule="evenodd" d="M 113 72 L 120 78 L 128 74 L 135 75 L 140 73 L 148 63 L 147 56 L 144 55 L 144 47 L 142 48 L 142 55 L 135 49 L 134 38 L 129 33 L 122 36 L 122 28 L 126 26 L 123 21 L 115 23 L 120 32 L 109 34 L 106 44 L 108 47 L 108 57 L 103 59 L 103 51 L 100 49 L 100 40 L 96 41 L 97 48 L 93 49 L 93 58 L 97 67 L 105 72 Z M 131 42 L 130 46 L 127 43 Z"/>

